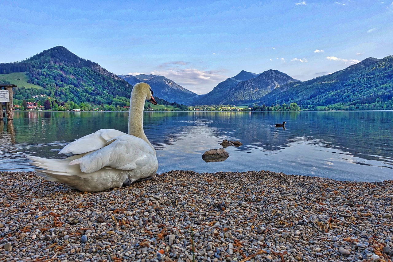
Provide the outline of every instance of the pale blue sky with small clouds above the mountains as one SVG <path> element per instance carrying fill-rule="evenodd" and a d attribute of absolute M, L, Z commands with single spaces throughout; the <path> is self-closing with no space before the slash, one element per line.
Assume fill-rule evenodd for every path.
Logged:
<path fill-rule="evenodd" d="M 196 94 L 242 70 L 301 81 L 393 55 L 392 0 L 0 0 L 0 63 L 64 46 Z"/>

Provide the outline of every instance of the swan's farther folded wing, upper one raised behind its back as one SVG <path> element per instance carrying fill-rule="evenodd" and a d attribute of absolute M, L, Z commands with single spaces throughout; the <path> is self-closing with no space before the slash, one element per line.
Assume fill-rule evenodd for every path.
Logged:
<path fill-rule="evenodd" d="M 116 129 L 100 129 L 66 145 L 60 150 L 59 154 L 70 156 L 94 151 L 103 148 L 108 140 L 120 135 L 127 134 Z"/>

